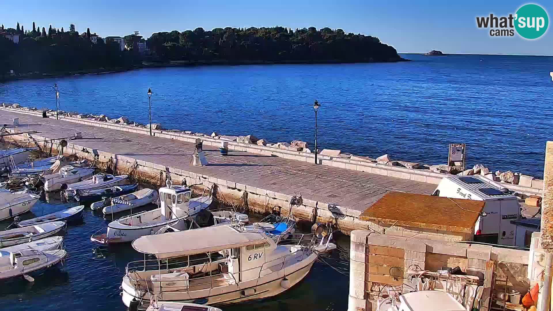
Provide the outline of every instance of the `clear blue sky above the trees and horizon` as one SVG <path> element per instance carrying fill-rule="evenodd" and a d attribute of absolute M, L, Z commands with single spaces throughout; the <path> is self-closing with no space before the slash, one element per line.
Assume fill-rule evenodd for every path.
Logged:
<path fill-rule="evenodd" d="M 400 53 L 444 53 L 553 55 L 553 33 L 537 40 L 490 37 L 476 27 L 477 16 L 508 15 L 528 2 L 520 1 L 48 1 L 25 0 L 2 3 L 0 23 L 17 22 L 31 29 L 64 29 L 74 23 L 79 32 L 90 27 L 101 37 L 139 31 L 154 32 L 203 27 L 342 28 L 380 38 Z M 553 3 L 540 4 L 550 14 Z M 553 26 L 552 26 L 553 27 Z"/>

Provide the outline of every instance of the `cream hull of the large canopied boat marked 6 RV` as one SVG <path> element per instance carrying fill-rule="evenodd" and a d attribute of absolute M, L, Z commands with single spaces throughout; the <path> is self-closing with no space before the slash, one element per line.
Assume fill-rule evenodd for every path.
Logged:
<path fill-rule="evenodd" d="M 199 300 L 202 301 L 202 303 L 208 304 L 208 305 L 225 305 L 225 304 L 232 304 L 232 303 L 239 303 L 239 302 L 245 302 L 248 300 L 255 300 L 255 299 L 262 299 L 267 297 L 272 297 L 275 295 L 278 295 L 287 289 L 293 287 L 295 284 L 298 284 L 302 279 L 305 278 L 307 273 L 311 270 L 313 267 L 315 260 L 317 258 L 317 255 L 312 253 L 308 258 L 305 258 L 304 260 L 300 262 L 305 261 L 305 265 L 301 265 L 301 267 L 296 268 L 293 272 L 290 272 L 288 274 L 285 273 L 271 273 L 268 276 L 263 276 L 260 278 L 251 279 L 249 281 L 245 282 L 239 282 L 238 284 L 234 284 L 232 286 L 233 288 L 225 288 L 224 287 L 215 287 L 212 289 L 206 289 L 205 293 L 207 296 L 201 296 L 198 295 L 198 297 L 192 297 L 191 294 L 187 293 L 169 293 L 164 292 L 163 297 L 157 297 L 158 301 L 171 301 L 171 302 L 198 302 Z M 284 269 L 282 270 L 284 272 Z M 273 274 L 279 274 L 276 277 Z M 287 279 L 289 283 L 286 287 L 283 287 L 283 280 Z M 231 286 L 228 286 L 231 287 Z M 123 303 L 129 307 L 131 302 L 134 301 L 140 301 L 144 302 L 145 304 L 142 305 L 142 308 L 147 308 L 147 303 L 150 300 L 150 294 L 148 292 L 141 292 L 141 291 L 135 291 L 134 287 L 129 283 L 128 277 L 123 277 L 123 283 L 121 288 L 123 289 L 122 292 L 122 300 Z M 228 292 L 222 292 L 226 289 L 229 289 Z M 253 293 L 246 296 L 247 292 L 251 292 L 250 289 L 253 289 Z M 204 291 L 202 291 L 204 292 Z M 217 293 L 220 292 L 220 293 Z M 186 298 L 179 298 L 178 296 L 189 296 Z M 143 297 L 142 299 L 140 297 Z"/>

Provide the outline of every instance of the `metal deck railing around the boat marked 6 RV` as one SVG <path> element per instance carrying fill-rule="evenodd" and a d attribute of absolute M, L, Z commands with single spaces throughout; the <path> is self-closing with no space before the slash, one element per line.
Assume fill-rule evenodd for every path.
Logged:
<path fill-rule="evenodd" d="M 140 272 L 140 271 L 135 271 L 132 268 L 129 268 L 129 265 L 131 265 L 131 264 L 134 265 L 137 262 L 129 262 L 129 264 L 127 265 L 127 276 L 129 276 L 129 277 L 134 276 L 135 277 L 135 279 L 133 279 L 132 281 L 135 282 L 135 287 L 137 289 L 147 290 L 148 292 L 150 292 L 150 290 L 153 290 L 153 288 L 159 288 L 159 293 L 150 292 L 150 294 L 157 295 L 157 294 L 163 293 L 164 290 L 166 292 L 173 292 L 173 293 L 177 292 L 177 291 L 188 293 L 189 291 L 194 292 L 196 290 L 207 289 L 207 287 L 206 287 L 207 285 L 209 285 L 208 288 L 214 288 L 214 286 L 213 286 L 214 285 L 213 284 L 214 280 L 217 281 L 217 282 L 225 280 L 225 281 L 234 281 L 234 283 L 237 283 L 238 281 L 237 281 L 236 276 L 238 276 L 238 279 L 241 279 L 242 281 L 247 281 L 247 279 L 242 278 L 242 275 L 244 273 L 248 273 L 248 277 L 251 278 L 251 273 L 249 273 L 249 272 L 252 272 L 252 271 L 257 272 L 258 278 L 260 278 L 262 276 L 267 276 L 270 273 L 279 272 L 279 271 L 286 268 L 286 263 L 291 262 L 291 261 L 295 261 L 295 262 L 302 261 L 305 258 L 307 258 L 312 253 L 312 251 L 313 251 L 312 247 L 301 247 L 301 248 L 298 248 L 295 252 L 291 252 L 291 253 L 286 254 L 285 256 L 281 256 L 279 258 L 275 258 L 273 260 L 265 262 L 261 266 L 249 268 L 249 269 L 246 269 L 246 270 L 243 270 L 243 271 L 238 271 L 238 272 L 226 272 L 226 273 L 221 272 L 221 273 L 217 273 L 217 274 L 212 274 L 211 273 L 212 271 L 210 271 L 210 272 L 205 272 L 206 274 L 208 274 L 207 276 L 195 277 L 195 278 L 174 277 L 174 278 L 170 278 L 170 279 L 163 279 L 163 273 L 161 274 L 159 279 L 156 279 L 156 280 L 140 278 L 139 274 L 136 273 L 136 272 Z M 160 271 L 161 269 L 168 270 L 168 269 L 166 269 L 168 266 L 166 266 L 164 263 L 161 263 L 158 260 L 148 260 L 148 261 L 155 262 L 155 265 L 147 265 L 144 261 L 143 266 L 140 266 L 141 268 L 144 268 L 144 271 L 156 271 L 156 270 Z M 184 262 L 181 262 L 181 263 L 184 263 Z M 213 262 L 210 261 L 210 262 L 207 262 L 207 263 L 213 263 Z M 176 264 L 176 263 L 169 263 L 168 265 L 172 265 L 172 264 Z M 137 267 L 139 267 L 139 266 L 137 266 Z M 277 267 L 277 268 L 275 269 L 275 267 Z M 147 268 L 150 268 L 150 269 L 146 270 Z M 184 268 L 187 268 L 187 267 L 181 267 L 180 269 L 175 268 L 175 271 L 176 272 L 185 272 Z M 182 271 L 180 271 L 181 269 L 182 269 Z M 270 271 L 270 272 L 266 273 L 266 274 L 263 274 L 262 272 L 264 272 L 264 271 L 265 272 Z M 159 276 L 159 274 L 157 274 L 157 275 Z M 192 280 L 194 281 L 194 284 L 190 284 Z M 162 283 L 165 283 L 165 284 L 162 284 Z M 147 286 L 144 286 L 144 284 L 147 284 Z M 170 285 L 168 285 L 168 284 L 170 284 Z M 215 287 L 221 287 L 221 286 L 225 286 L 227 284 L 228 283 L 215 284 L 216 285 Z M 194 288 L 198 288 L 198 289 L 194 289 Z"/>

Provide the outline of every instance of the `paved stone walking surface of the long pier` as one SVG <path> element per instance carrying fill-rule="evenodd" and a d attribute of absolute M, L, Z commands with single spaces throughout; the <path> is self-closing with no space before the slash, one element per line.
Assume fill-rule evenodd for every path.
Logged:
<path fill-rule="evenodd" d="M 388 191 L 430 194 L 436 188 L 435 184 L 415 180 L 316 165 L 270 155 L 229 151 L 227 156 L 222 156 L 218 148 L 205 144 L 204 151 L 210 165 L 194 167 L 190 163 L 195 149 L 192 142 L 6 110 L 0 110 L 0 116 L 1 123 L 7 125 L 13 124 L 12 118 L 19 118 L 20 132 L 38 131 L 39 133 L 32 134 L 36 141 L 72 137 L 75 132 L 81 132 L 83 139 L 69 141 L 70 144 L 79 148 L 97 149 L 118 157 L 122 156 L 124 159 L 138 160 L 140 164 L 157 164 L 150 169 L 153 175 L 159 175 L 159 171 L 163 169 L 161 167 L 169 167 L 171 172 L 180 170 L 186 172 L 184 175 L 201 176 L 213 182 L 216 180 L 215 183 L 224 189 L 243 189 L 248 193 L 269 196 L 275 200 L 301 194 L 306 206 L 311 205 L 311 201 L 314 201 L 313 206 L 319 209 L 327 208 L 327 204 L 336 204 L 347 209 L 347 212 L 342 210 L 343 214 L 354 218 Z M 15 137 L 21 140 L 23 136 L 6 138 L 16 139 Z M 286 205 L 283 203 L 272 204 L 283 206 L 284 210 Z M 312 210 L 312 207 L 306 210 Z M 322 214 L 319 212 L 319 215 Z M 356 227 L 364 227 L 359 225 Z"/>

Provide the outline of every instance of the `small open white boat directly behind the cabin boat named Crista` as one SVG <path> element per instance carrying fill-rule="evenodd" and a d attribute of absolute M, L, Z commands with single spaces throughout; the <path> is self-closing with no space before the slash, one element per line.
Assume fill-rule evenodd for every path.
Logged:
<path fill-rule="evenodd" d="M 158 191 L 144 188 L 133 193 L 117 196 L 117 198 L 106 198 L 103 201 L 92 203 L 90 208 L 92 210 L 99 210 L 103 208 L 103 214 L 108 215 L 133 208 L 139 208 L 140 206 L 155 203 L 157 200 Z"/>

